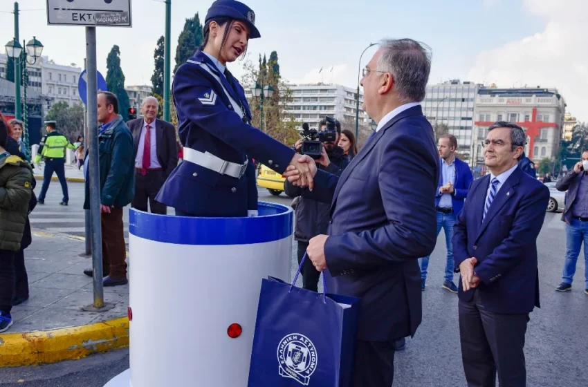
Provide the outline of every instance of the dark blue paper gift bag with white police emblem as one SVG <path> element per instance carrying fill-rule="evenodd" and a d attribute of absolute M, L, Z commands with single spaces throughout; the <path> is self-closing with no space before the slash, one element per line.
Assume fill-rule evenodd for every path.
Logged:
<path fill-rule="evenodd" d="M 249 387 L 353 384 L 360 299 L 295 287 L 302 263 L 292 284 L 261 281 Z"/>

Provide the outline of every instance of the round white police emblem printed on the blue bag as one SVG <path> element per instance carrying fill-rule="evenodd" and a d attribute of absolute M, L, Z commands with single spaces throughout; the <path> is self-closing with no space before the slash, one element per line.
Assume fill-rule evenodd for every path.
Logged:
<path fill-rule="evenodd" d="M 277 361 L 280 376 L 295 379 L 303 386 L 308 386 L 317 365 L 316 348 L 303 334 L 288 334 L 279 341 Z"/>

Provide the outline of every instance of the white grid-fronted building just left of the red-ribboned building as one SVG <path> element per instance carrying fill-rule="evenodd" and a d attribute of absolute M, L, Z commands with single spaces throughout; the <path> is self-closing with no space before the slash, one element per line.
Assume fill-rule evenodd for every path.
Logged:
<path fill-rule="evenodd" d="M 458 154 L 470 162 L 472 131 L 474 127 L 475 97 L 479 85 L 454 79 L 442 84 L 427 86 L 425 100 L 421 102 L 423 114 L 434 131 L 445 128 L 457 138 Z"/>

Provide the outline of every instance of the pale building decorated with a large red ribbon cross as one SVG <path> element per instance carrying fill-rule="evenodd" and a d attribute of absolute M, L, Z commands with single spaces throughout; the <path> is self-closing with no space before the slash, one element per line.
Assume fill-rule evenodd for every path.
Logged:
<path fill-rule="evenodd" d="M 484 164 L 481 142 L 486 139 L 488 126 L 496 121 L 522 126 L 527 137 L 525 153 L 535 163 L 542 158 L 553 160 L 560 147 L 565 106 L 564 98 L 555 88 L 481 86 L 475 102 L 475 140 L 472 141 L 475 165 Z"/>

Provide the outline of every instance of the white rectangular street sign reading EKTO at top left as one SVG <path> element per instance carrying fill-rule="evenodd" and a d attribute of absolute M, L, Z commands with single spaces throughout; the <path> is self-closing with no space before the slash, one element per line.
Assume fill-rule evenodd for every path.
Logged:
<path fill-rule="evenodd" d="M 47 23 L 131 27 L 131 0 L 47 0 Z"/>

